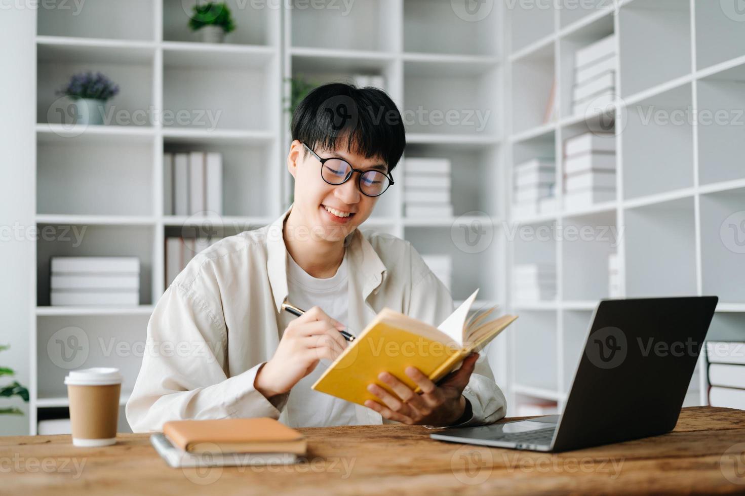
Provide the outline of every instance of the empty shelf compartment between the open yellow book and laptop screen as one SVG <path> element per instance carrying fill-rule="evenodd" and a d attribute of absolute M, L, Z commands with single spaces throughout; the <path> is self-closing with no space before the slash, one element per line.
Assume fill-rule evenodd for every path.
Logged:
<path fill-rule="evenodd" d="M 530 389 L 556 392 L 556 396 L 550 399 L 559 399 L 557 313 L 522 311 L 513 326 L 514 382 Z M 529 389 L 522 390 L 527 391 Z"/>

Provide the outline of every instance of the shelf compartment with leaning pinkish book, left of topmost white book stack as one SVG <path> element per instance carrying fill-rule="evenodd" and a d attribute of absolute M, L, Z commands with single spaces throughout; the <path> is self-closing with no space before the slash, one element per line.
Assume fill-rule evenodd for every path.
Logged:
<path fill-rule="evenodd" d="M 513 134 L 542 128 L 552 121 L 546 117 L 550 113 L 548 107 L 552 99 L 556 103 L 554 47 L 554 43 L 545 45 L 513 63 Z"/>

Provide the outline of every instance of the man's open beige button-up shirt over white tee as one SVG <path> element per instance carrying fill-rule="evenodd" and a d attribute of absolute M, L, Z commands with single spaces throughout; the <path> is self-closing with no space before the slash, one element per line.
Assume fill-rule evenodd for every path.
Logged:
<path fill-rule="evenodd" d="M 292 390 L 269 401 L 253 382 L 261 364 L 273 357 L 286 322 L 279 314 L 288 294 L 282 226 L 291 209 L 269 226 L 225 238 L 196 255 L 161 296 L 127 401 L 133 431 L 162 430 L 164 422 L 182 419 L 266 416 L 288 423 L 283 410 Z M 364 329 L 384 307 L 431 325 L 453 311 L 448 290 L 408 241 L 355 229 L 345 242 L 345 324 L 353 331 Z M 473 374 L 463 391 L 472 418 L 460 425 L 495 422 L 506 412 L 483 354 L 479 362 L 484 375 Z M 368 424 L 384 423 L 377 412 L 364 410 Z M 302 417 L 293 417 L 292 425 L 302 427 Z M 332 417 L 327 425 L 337 425 Z"/>

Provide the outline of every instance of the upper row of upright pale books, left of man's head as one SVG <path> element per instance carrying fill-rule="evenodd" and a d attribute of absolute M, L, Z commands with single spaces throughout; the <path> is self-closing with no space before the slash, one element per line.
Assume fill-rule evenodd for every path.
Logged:
<path fill-rule="evenodd" d="M 217 152 L 163 154 L 163 214 L 223 214 L 223 156 Z"/>

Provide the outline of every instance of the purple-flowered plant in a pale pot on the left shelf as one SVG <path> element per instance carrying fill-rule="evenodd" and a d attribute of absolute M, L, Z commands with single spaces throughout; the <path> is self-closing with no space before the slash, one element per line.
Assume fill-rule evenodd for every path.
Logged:
<path fill-rule="evenodd" d="M 104 124 L 106 102 L 119 92 L 119 86 L 97 72 L 80 72 L 57 91 L 57 95 L 72 98 L 75 105 L 74 124 Z"/>

